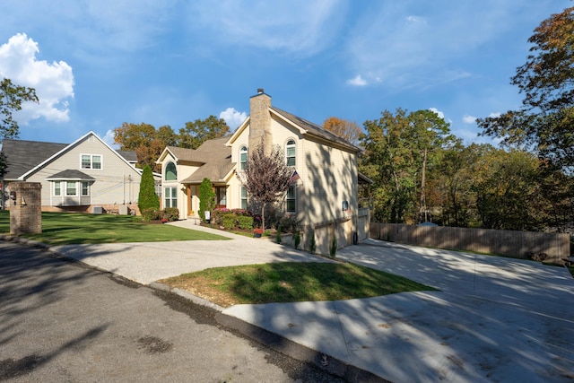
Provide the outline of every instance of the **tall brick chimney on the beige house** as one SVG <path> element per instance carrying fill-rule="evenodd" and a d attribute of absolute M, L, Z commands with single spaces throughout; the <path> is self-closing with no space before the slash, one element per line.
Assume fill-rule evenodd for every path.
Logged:
<path fill-rule="evenodd" d="M 271 152 L 273 138 L 271 135 L 271 97 L 265 94 L 263 88 L 257 89 L 257 94 L 249 100 L 249 150 L 264 143 L 265 153 Z"/>

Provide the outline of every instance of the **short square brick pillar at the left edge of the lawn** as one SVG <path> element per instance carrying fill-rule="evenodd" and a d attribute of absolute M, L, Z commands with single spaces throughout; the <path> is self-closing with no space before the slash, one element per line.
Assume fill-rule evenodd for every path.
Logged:
<path fill-rule="evenodd" d="M 10 234 L 42 232 L 42 185 L 39 182 L 11 182 L 9 199 Z"/>

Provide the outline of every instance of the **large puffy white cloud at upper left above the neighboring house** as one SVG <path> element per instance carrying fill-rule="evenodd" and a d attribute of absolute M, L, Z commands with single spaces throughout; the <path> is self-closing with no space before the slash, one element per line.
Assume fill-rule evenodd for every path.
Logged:
<path fill-rule="evenodd" d="M 70 119 L 68 99 L 74 98 L 74 74 L 64 61 L 38 60 L 38 43 L 25 33 L 18 33 L 0 46 L 0 77 L 14 84 L 36 90 L 39 103 L 24 102 L 22 110 L 14 114 L 26 125 L 30 119 L 46 118 L 65 122 Z"/>

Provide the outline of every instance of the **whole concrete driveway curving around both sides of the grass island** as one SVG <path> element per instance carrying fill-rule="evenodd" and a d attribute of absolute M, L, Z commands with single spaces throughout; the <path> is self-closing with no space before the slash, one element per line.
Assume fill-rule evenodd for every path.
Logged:
<path fill-rule="evenodd" d="M 55 250 L 144 284 L 213 266 L 326 261 L 265 239 L 230 238 Z M 440 291 L 222 312 L 325 353 L 327 364 L 335 358 L 393 382 L 574 381 L 574 279 L 565 268 L 375 239 L 337 258 Z"/>

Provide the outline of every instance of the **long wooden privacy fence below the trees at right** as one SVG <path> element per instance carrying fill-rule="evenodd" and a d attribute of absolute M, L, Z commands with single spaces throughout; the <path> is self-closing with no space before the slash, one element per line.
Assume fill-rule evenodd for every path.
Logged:
<path fill-rule="evenodd" d="M 529 258 L 531 253 L 545 253 L 548 261 L 558 264 L 563 264 L 563 259 L 570 257 L 569 234 L 371 222 L 370 238 L 524 259 Z"/>

